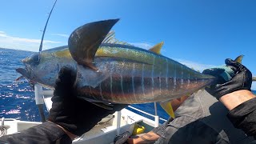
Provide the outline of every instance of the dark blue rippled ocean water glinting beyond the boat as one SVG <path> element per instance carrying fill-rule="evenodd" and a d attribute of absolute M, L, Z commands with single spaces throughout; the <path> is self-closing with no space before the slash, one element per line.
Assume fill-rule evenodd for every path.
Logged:
<path fill-rule="evenodd" d="M 40 122 L 41 120 L 38 108 L 34 102 L 32 87 L 24 78 L 18 82 L 15 81 L 15 79 L 21 76 L 15 69 L 24 67 L 21 60 L 31 54 L 34 53 L 0 48 L 0 118 L 18 118 L 32 122 Z M 153 103 L 132 106 L 154 114 Z M 48 114 L 46 108 L 45 114 L 46 116 Z M 158 115 L 161 118 L 168 118 L 168 115 L 160 106 L 158 106 Z M 152 117 L 148 118 L 153 119 Z"/>

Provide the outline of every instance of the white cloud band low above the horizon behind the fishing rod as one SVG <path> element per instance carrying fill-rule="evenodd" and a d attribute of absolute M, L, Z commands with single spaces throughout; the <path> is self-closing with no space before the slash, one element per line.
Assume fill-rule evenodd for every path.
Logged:
<path fill-rule="evenodd" d="M 40 42 L 41 39 L 13 37 L 6 34 L 4 31 L 0 31 L 0 47 L 3 48 L 38 51 Z M 43 49 L 49 49 L 60 43 L 62 42 L 44 40 Z"/>

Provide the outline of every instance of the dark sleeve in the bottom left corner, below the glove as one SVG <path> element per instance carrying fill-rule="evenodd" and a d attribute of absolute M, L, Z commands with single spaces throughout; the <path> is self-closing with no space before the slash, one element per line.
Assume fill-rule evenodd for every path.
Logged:
<path fill-rule="evenodd" d="M 56 124 L 44 122 L 38 126 L 22 130 L 0 138 L 0 143 L 71 143 L 70 137 Z"/>

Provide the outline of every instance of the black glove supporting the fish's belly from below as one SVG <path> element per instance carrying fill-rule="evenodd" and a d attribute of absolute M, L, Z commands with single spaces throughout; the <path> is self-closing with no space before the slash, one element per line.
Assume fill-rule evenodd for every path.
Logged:
<path fill-rule="evenodd" d="M 113 110 L 106 110 L 77 98 L 74 88 L 75 78 L 76 74 L 72 70 L 66 67 L 60 70 L 54 97 L 51 98 L 53 104 L 48 118 L 50 122 L 62 126 L 70 133 L 82 135 L 108 114 L 113 114 L 116 110 L 122 110 L 127 106 L 117 104 L 112 107 Z"/>

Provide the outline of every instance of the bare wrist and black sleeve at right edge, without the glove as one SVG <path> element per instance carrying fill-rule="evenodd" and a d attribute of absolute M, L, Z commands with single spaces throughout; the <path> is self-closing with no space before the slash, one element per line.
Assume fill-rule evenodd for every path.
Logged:
<path fill-rule="evenodd" d="M 234 127 L 256 138 L 256 98 L 249 90 L 226 94 L 220 101 L 230 110 L 227 117 Z"/>

